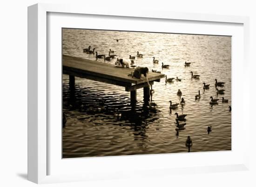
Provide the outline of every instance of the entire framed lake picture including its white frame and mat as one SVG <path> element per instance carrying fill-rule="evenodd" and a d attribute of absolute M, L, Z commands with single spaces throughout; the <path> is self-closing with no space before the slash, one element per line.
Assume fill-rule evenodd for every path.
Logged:
<path fill-rule="evenodd" d="M 28 179 L 247 170 L 248 24 L 29 6 Z"/>

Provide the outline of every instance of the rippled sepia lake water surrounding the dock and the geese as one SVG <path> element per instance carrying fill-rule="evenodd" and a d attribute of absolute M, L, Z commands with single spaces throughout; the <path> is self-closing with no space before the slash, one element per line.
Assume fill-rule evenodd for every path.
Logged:
<path fill-rule="evenodd" d="M 130 107 L 130 93 L 124 87 L 75 77 L 76 100 L 70 100 L 68 76 L 63 75 L 63 111 L 67 116 L 63 128 L 63 158 L 138 155 L 188 152 L 185 141 L 191 136 L 191 152 L 231 150 L 231 37 L 202 36 L 166 33 L 115 32 L 80 29 L 63 29 L 63 54 L 95 60 L 93 54 L 83 52 L 88 45 L 101 54 L 115 51 L 118 58 L 144 54 L 135 58 L 135 64 L 149 70 L 161 71 L 168 77 L 179 77 L 181 82 L 165 84 L 155 82 L 153 101 L 156 110 L 143 103 L 143 89 L 137 90 L 137 106 Z M 116 39 L 119 39 L 117 42 Z M 153 64 L 153 57 L 161 63 Z M 115 64 L 116 59 L 103 63 Z M 184 62 L 191 62 L 189 67 Z M 117 70 L 118 71 L 118 68 Z M 191 79 L 191 73 L 200 79 Z M 225 82 L 224 95 L 217 95 L 215 78 Z M 203 90 L 203 82 L 210 84 Z M 169 110 L 169 100 L 180 103 L 177 90 L 182 91 L 185 105 Z M 195 95 L 201 92 L 201 99 Z M 211 106 L 209 97 L 229 99 Z M 99 108 L 105 99 L 105 108 Z M 83 110 L 79 110 L 81 104 Z M 115 111 L 121 111 L 121 119 Z M 187 114 L 186 129 L 177 134 L 174 113 Z M 208 134 L 207 127 L 212 126 Z"/>

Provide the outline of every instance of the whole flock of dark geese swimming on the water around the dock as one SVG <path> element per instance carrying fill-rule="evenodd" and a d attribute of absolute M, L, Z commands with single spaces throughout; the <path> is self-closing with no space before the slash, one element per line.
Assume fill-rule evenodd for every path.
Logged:
<path fill-rule="evenodd" d="M 109 51 L 108 51 L 108 56 L 106 56 L 105 54 L 98 54 L 98 52 L 97 51 L 95 51 L 95 47 L 91 50 L 91 46 L 88 46 L 88 48 L 85 48 L 85 49 L 83 49 L 83 52 L 86 52 L 86 53 L 88 53 L 88 54 L 94 54 L 95 53 L 95 58 L 97 59 L 97 58 L 104 58 L 104 60 L 108 60 L 108 61 L 110 61 L 112 58 L 116 58 L 117 56 L 114 54 L 115 53 L 115 51 L 112 51 L 111 49 L 109 49 Z M 137 56 L 137 58 L 142 58 L 143 57 L 143 54 L 141 54 L 141 53 L 139 53 L 139 52 L 137 52 L 137 54 L 136 54 L 136 56 Z M 134 60 L 135 59 L 135 56 L 132 56 L 132 55 L 129 55 L 129 59 L 130 60 Z M 117 62 L 118 62 L 118 58 L 117 58 Z M 116 62 L 116 63 L 117 63 Z M 157 60 L 155 57 L 153 57 L 153 63 L 154 64 L 158 64 L 159 63 L 159 60 Z M 190 62 L 186 62 L 185 61 L 185 66 L 190 66 Z M 168 65 L 168 64 L 163 64 L 162 63 L 162 69 L 164 69 L 164 68 L 169 68 L 170 67 L 170 65 Z M 157 72 L 157 73 L 161 73 L 161 71 L 156 71 L 156 70 L 153 70 L 152 69 L 152 72 Z M 198 74 L 194 74 L 193 73 L 193 71 L 190 71 L 190 73 L 191 73 L 191 79 L 199 79 L 200 78 L 200 75 L 198 75 Z M 174 80 L 176 80 L 176 81 L 178 81 L 178 82 L 180 82 L 180 81 L 182 81 L 182 79 L 181 78 L 178 78 L 178 77 L 176 77 L 176 78 L 168 78 L 167 76 L 165 76 L 165 82 L 166 82 L 166 84 L 167 83 L 173 83 L 173 81 Z M 206 84 L 206 83 L 202 83 L 203 84 L 203 90 L 208 90 L 209 88 L 210 88 L 210 84 Z M 224 91 L 225 90 L 223 90 L 223 89 L 219 89 L 219 87 L 224 87 L 224 82 L 218 82 L 217 81 L 217 79 L 215 79 L 215 87 L 216 87 L 216 94 L 217 94 L 217 96 L 220 94 L 220 95 L 223 95 L 224 94 Z M 154 91 L 152 91 L 152 90 L 150 90 L 150 94 L 151 94 L 151 96 L 152 96 L 152 94 L 154 93 Z M 170 111 L 171 110 L 176 110 L 177 108 L 178 108 L 178 105 L 181 105 L 182 106 L 182 108 L 183 108 L 183 106 L 185 105 L 185 99 L 182 97 L 182 91 L 179 89 L 178 91 L 177 91 L 177 95 L 181 98 L 181 102 L 180 103 L 172 103 L 172 101 L 169 101 L 169 103 L 170 103 L 170 105 L 169 105 L 169 109 L 170 109 Z M 199 100 L 201 98 L 201 94 L 200 94 L 200 90 L 198 90 L 198 94 L 196 94 L 195 95 L 195 100 Z M 218 104 L 218 102 L 219 102 L 219 100 L 220 99 L 218 99 L 218 98 L 213 98 L 213 97 L 210 97 L 210 101 L 209 101 L 209 104 L 210 105 L 216 105 L 216 104 Z M 225 99 L 224 97 L 222 97 L 222 99 L 221 99 L 221 102 L 222 103 L 228 103 L 229 102 L 229 100 L 228 99 Z M 154 104 L 154 103 L 152 103 L 152 101 L 151 101 L 151 103 L 150 103 L 150 106 L 151 107 L 156 107 L 156 104 Z M 229 106 L 229 111 L 231 111 L 231 106 Z M 120 119 L 121 118 L 121 112 L 120 111 L 116 111 L 115 112 L 115 117 L 117 117 L 118 119 Z M 179 115 L 177 112 L 175 113 L 175 115 L 176 115 L 176 118 L 175 118 L 175 120 L 176 120 L 176 132 L 177 132 L 177 135 L 179 134 L 179 131 L 180 130 L 183 130 L 183 129 L 185 129 L 185 125 L 186 125 L 186 123 L 180 123 L 180 122 L 185 122 L 186 121 L 186 114 L 182 114 L 182 115 Z M 63 114 L 63 123 L 65 124 L 66 123 L 66 117 L 65 117 L 65 114 Z M 212 126 L 209 126 L 208 128 L 207 128 L 207 131 L 208 131 L 208 134 L 212 131 Z M 186 140 L 186 143 L 185 143 L 185 145 L 186 145 L 186 147 L 188 147 L 189 148 L 189 151 L 190 151 L 190 147 L 192 147 L 192 140 L 191 140 L 191 138 L 190 138 L 190 136 L 188 136 L 188 138 L 187 138 L 187 140 Z"/>

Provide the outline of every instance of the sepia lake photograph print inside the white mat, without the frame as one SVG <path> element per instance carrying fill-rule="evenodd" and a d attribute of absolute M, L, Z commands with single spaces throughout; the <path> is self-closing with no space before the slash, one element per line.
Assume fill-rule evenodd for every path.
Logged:
<path fill-rule="evenodd" d="M 231 150 L 231 41 L 62 28 L 62 158 Z"/>

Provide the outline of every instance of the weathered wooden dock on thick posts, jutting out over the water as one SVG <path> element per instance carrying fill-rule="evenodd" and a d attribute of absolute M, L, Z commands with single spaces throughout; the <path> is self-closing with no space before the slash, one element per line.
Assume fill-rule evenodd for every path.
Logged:
<path fill-rule="evenodd" d="M 149 101 L 149 86 L 154 82 L 160 82 L 160 79 L 165 77 L 164 74 L 148 72 L 147 79 L 142 76 L 141 79 L 128 76 L 133 71 L 130 68 L 117 68 L 115 65 L 102 63 L 94 60 L 62 56 L 62 73 L 69 75 L 70 90 L 74 91 L 74 77 L 87 78 L 103 83 L 114 84 L 125 87 L 126 91 L 130 91 L 131 103 L 136 101 L 136 90 L 144 89 L 144 100 Z"/>

